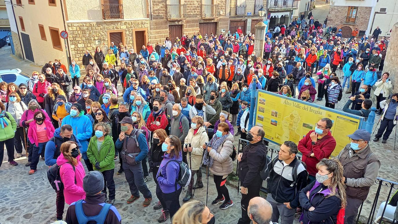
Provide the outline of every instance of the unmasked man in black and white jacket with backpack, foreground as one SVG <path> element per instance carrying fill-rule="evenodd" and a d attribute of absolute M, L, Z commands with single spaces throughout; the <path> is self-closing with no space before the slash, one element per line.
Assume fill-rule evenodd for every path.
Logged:
<path fill-rule="evenodd" d="M 285 141 L 272 161 L 267 187 L 270 193 L 267 201 L 272 205 L 272 222 L 293 224 L 298 202 L 298 193 L 307 185 L 308 172 L 304 164 L 298 160 L 297 145 Z"/>

